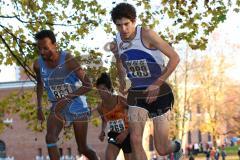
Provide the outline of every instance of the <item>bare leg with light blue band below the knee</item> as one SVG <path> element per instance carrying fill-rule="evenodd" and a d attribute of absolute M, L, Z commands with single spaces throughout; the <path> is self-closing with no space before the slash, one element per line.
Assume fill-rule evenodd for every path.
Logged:
<path fill-rule="evenodd" d="M 59 120 L 54 113 L 50 113 L 47 120 L 47 135 L 46 143 L 48 153 L 51 160 L 59 160 L 60 154 L 57 148 L 58 136 L 63 128 L 63 123 Z"/>

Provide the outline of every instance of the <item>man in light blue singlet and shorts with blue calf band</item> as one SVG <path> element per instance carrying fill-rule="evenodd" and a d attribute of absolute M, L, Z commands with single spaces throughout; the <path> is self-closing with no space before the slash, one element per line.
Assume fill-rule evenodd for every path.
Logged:
<path fill-rule="evenodd" d="M 34 62 L 37 75 L 37 114 L 43 121 L 42 96 L 43 87 L 51 102 L 51 112 L 47 119 L 46 143 L 51 160 L 59 160 L 57 148 L 59 134 L 64 127 L 62 120 L 55 115 L 55 109 L 62 107 L 62 117 L 66 123 L 73 124 L 79 154 L 90 160 L 97 160 L 97 155 L 87 145 L 88 106 L 83 96 L 92 85 L 78 61 L 70 54 L 57 48 L 52 31 L 42 30 L 35 35 L 39 58 Z M 75 84 L 81 82 L 80 88 Z"/>

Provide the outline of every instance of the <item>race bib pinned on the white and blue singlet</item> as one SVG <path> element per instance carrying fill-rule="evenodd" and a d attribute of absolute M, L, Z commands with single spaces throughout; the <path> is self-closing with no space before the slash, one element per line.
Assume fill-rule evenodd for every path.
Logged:
<path fill-rule="evenodd" d="M 133 78 L 151 77 L 146 59 L 126 61 L 126 65 Z"/>

